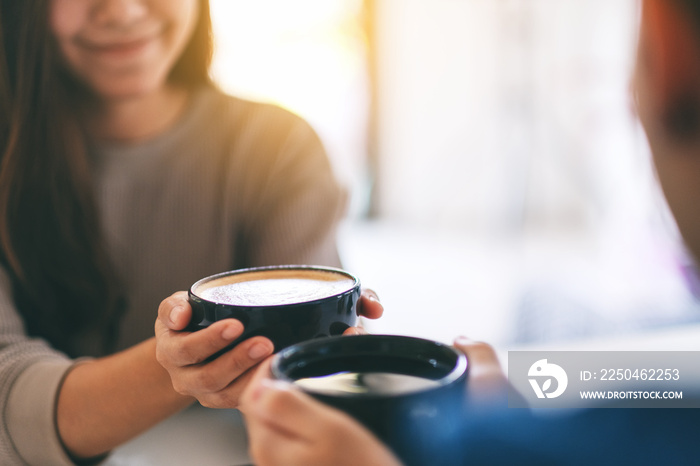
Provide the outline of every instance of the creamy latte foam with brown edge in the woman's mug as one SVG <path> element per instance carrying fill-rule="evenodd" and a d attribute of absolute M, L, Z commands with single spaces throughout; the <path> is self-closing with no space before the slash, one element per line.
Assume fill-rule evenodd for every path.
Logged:
<path fill-rule="evenodd" d="M 317 270 L 268 270 L 232 274 L 202 284 L 203 299 L 235 306 L 304 303 L 344 293 L 355 286 L 347 275 Z"/>

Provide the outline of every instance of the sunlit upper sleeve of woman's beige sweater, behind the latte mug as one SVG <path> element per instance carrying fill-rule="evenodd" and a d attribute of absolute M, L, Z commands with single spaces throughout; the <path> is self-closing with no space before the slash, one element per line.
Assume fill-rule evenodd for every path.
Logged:
<path fill-rule="evenodd" d="M 259 107 L 249 119 L 268 128 L 248 167 L 245 202 L 246 265 L 340 266 L 337 225 L 346 191 L 338 183 L 316 132 L 303 119 L 274 107 Z M 265 122 L 256 123 L 257 122 Z M 256 131 L 251 131 L 256 133 Z"/>

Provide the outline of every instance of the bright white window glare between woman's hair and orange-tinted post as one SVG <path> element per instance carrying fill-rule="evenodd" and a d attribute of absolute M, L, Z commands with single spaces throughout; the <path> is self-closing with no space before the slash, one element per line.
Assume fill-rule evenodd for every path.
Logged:
<path fill-rule="evenodd" d="M 210 4 L 214 81 L 225 92 L 306 119 L 340 179 L 364 183 L 369 81 L 362 0 Z"/>

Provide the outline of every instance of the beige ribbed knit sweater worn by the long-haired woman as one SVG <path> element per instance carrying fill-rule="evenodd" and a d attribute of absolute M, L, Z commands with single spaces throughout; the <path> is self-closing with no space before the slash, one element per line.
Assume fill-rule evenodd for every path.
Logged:
<path fill-rule="evenodd" d="M 270 264 L 339 266 L 344 194 L 303 120 L 206 88 L 165 134 L 94 144 L 104 230 L 126 284 L 119 348 L 153 336 L 158 304 L 199 278 Z M 86 356 L 99 335 L 85 335 Z M 71 464 L 54 423 L 74 361 L 30 339 L 0 270 L 0 464 Z"/>

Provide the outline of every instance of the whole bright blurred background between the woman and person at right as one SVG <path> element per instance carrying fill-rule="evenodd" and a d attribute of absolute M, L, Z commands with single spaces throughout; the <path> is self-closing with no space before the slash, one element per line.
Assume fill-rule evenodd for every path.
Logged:
<path fill-rule="evenodd" d="M 638 0 L 211 0 L 213 74 L 308 120 L 375 333 L 499 349 L 700 320 L 630 77 Z"/>

